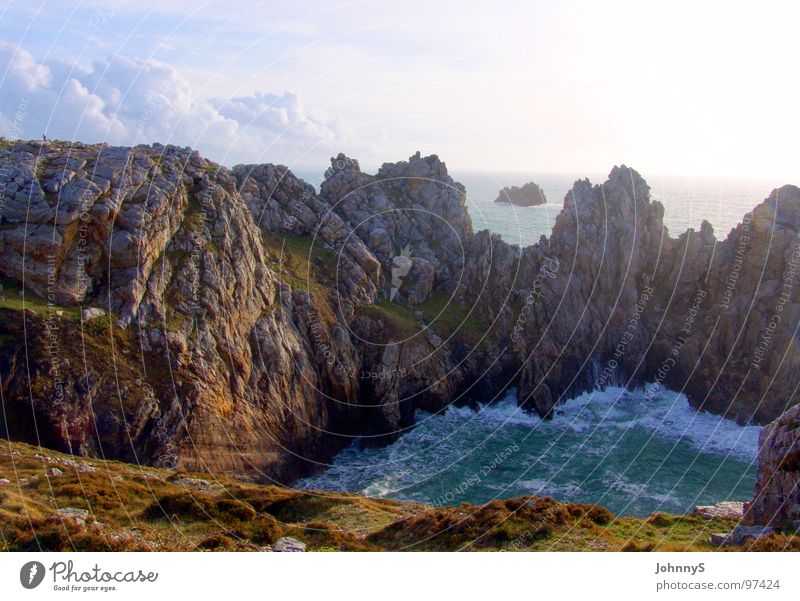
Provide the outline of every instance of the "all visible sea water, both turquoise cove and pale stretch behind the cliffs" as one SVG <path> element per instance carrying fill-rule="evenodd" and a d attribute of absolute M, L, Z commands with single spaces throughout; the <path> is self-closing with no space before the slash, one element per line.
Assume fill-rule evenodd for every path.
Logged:
<path fill-rule="evenodd" d="M 673 236 L 707 219 L 724 238 L 784 183 L 644 175 L 652 198 L 665 205 Z M 467 188 L 475 230 L 488 228 L 507 242 L 527 245 L 549 235 L 578 177 L 456 173 L 454 179 Z M 544 189 L 546 205 L 493 202 L 503 186 L 531 180 Z M 362 448 L 355 441 L 326 471 L 296 486 L 434 505 L 536 494 L 637 516 L 681 514 L 695 505 L 752 495 L 759 428 L 698 413 L 682 394 L 594 391 L 560 406 L 551 421 L 522 412 L 514 396 L 509 391 L 478 409 L 419 411 L 415 428 L 397 441 L 382 448 Z"/>

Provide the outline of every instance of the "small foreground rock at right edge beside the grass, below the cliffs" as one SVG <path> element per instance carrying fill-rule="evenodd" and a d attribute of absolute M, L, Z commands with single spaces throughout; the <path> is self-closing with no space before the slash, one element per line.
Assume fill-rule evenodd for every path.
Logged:
<path fill-rule="evenodd" d="M 758 481 L 745 507 L 747 521 L 776 528 L 800 526 L 800 406 L 789 409 L 759 436 Z"/>

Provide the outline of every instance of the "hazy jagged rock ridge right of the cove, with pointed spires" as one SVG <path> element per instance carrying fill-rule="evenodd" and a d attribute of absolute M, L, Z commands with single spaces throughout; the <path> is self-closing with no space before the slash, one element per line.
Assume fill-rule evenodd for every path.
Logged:
<path fill-rule="evenodd" d="M 800 189 L 774 190 L 722 241 L 707 222 L 672 238 L 663 212 L 623 166 L 576 182 L 539 244 L 473 237 L 458 302 L 507 336 L 520 404 L 548 416 L 645 382 L 741 423 L 797 403 Z"/>

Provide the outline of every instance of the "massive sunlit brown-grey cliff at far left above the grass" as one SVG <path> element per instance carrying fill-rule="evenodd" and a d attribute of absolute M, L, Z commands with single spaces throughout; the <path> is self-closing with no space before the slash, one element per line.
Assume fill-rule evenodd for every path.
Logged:
<path fill-rule="evenodd" d="M 272 477 L 295 473 L 293 453 L 324 456 L 324 432 L 348 415 L 326 394 L 348 384 L 318 361 L 319 318 L 307 295 L 281 290 L 229 171 L 174 147 L 4 152 L 0 270 L 53 304 L 2 316 L 31 332 L 3 349 L 6 435 Z M 89 191 L 82 212 L 62 215 L 54 178 Z M 113 319 L 88 334 L 51 311 L 89 299 Z"/>

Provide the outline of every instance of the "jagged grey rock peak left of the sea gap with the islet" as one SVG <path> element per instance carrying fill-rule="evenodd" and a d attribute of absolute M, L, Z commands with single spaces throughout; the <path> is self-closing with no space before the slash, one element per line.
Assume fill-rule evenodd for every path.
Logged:
<path fill-rule="evenodd" d="M 381 262 L 388 276 L 385 292 L 420 304 L 432 289 L 453 288 L 472 222 L 464 187 L 437 156 L 418 152 L 408 161 L 384 164 L 373 176 L 340 154 L 325 175 L 320 198 Z M 407 287 L 398 284 L 400 273 Z"/>

